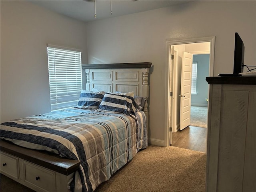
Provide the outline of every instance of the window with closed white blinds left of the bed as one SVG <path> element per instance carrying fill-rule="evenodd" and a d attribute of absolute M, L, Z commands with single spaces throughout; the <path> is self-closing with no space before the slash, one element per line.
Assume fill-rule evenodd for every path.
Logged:
<path fill-rule="evenodd" d="M 76 106 L 82 90 L 81 51 L 48 45 L 51 110 Z"/>

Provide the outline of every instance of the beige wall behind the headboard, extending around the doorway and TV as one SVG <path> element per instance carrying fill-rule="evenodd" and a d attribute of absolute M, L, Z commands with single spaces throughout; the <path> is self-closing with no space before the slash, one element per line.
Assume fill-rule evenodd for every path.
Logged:
<path fill-rule="evenodd" d="M 245 64 L 256 63 L 255 1 L 192 1 L 87 23 L 88 63 L 152 62 L 150 138 L 164 140 L 166 39 L 215 36 L 214 75 L 232 73 L 234 34 Z"/>

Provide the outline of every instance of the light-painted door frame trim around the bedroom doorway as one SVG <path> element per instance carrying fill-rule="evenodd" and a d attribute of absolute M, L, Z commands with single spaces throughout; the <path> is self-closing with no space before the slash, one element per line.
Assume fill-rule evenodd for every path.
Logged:
<path fill-rule="evenodd" d="M 173 87 L 173 76 L 170 74 L 170 68 L 173 69 L 173 66 L 170 66 L 170 49 L 173 45 L 180 44 L 190 44 L 190 43 L 201 43 L 201 42 L 210 42 L 210 63 L 209 63 L 209 76 L 214 74 L 214 48 L 215 48 L 215 36 L 210 37 L 201 37 L 201 38 L 190 38 L 190 39 L 166 39 L 166 75 L 165 75 L 165 110 L 164 110 L 164 146 L 170 146 L 169 140 L 169 98 L 170 98 L 170 84 Z M 208 87 L 208 96 L 209 96 L 209 87 Z M 173 106 L 173 104 L 172 104 Z M 172 120 L 173 122 L 173 120 Z"/>

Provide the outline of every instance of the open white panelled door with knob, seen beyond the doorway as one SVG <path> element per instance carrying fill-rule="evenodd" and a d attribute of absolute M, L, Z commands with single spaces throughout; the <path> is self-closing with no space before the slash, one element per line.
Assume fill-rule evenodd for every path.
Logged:
<path fill-rule="evenodd" d="M 183 52 L 180 86 L 180 130 L 190 124 L 192 61 L 193 54 Z"/>

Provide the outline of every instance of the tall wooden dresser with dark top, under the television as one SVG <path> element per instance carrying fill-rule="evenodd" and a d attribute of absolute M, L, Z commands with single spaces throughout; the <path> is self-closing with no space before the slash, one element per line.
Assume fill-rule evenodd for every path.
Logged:
<path fill-rule="evenodd" d="M 256 77 L 210 84 L 206 192 L 256 191 Z"/>

